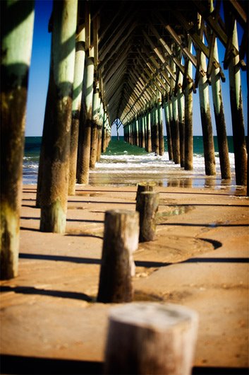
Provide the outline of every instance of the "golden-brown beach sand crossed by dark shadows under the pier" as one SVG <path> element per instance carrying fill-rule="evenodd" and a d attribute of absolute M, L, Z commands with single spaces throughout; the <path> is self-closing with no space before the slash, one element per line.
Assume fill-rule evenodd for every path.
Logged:
<path fill-rule="evenodd" d="M 162 188 L 157 239 L 134 253 L 135 301 L 200 314 L 194 365 L 248 367 L 248 198 L 243 189 Z M 1 354 L 102 362 L 111 304 L 97 296 L 104 212 L 135 187 L 77 186 L 66 234 L 41 233 L 23 187 L 19 276 L 1 282 Z"/>

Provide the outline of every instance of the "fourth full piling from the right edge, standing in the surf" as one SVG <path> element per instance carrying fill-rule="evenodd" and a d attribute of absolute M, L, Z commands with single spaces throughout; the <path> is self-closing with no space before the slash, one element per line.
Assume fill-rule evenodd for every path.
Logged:
<path fill-rule="evenodd" d="M 190 43 L 190 41 L 189 41 Z M 189 50 L 191 52 L 192 45 L 190 44 Z M 186 59 L 185 69 L 189 76 L 187 81 L 184 96 L 185 96 L 185 156 L 184 156 L 184 169 L 192 171 L 193 169 L 193 81 L 190 81 L 193 76 L 193 67 L 191 62 Z"/>

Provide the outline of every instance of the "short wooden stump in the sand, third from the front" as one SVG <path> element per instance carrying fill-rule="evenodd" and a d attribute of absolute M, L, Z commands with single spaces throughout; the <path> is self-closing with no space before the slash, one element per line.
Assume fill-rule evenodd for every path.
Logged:
<path fill-rule="evenodd" d="M 152 191 L 141 192 L 136 209 L 139 212 L 139 241 L 153 241 L 156 236 L 156 214 L 159 206 L 159 193 Z"/>

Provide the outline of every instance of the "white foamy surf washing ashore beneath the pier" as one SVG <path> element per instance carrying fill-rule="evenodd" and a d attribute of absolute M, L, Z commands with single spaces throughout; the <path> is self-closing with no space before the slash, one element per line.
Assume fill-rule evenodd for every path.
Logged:
<path fill-rule="evenodd" d="M 231 173 L 234 175 L 234 154 L 229 154 L 229 160 Z M 25 156 L 23 158 L 23 183 L 37 183 L 38 163 L 39 158 L 34 158 L 34 156 Z M 215 153 L 215 163 L 217 178 L 220 178 L 219 153 Z M 90 171 L 90 176 L 96 183 L 97 175 L 101 175 L 103 178 L 105 174 L 109 176 L 110 184 L 115 183 L 119 175 L 121 175 L 123 184 L 127 185 L 130 185 L 132 181 L 135 183 L 141 176 L 145 176 L 147 180 L 158 180 L 159 178 L 164 180 L 176 178 L 180 180 L 193 176 L 193 178 L 200 180 L 200 184 L 207 177 L 205 176 L 205 158 L 203 154 L 194 154 L 193 171 L 185 171 L 179 164 L 169 160 L 167 151 L 162 156 L 154 153 L 133 155 L 128 154 L 126 150 L 123 151 L 123 154 L 104 154 L 101 156 L 100 161 L 96 163 L 95 169 Z"/>

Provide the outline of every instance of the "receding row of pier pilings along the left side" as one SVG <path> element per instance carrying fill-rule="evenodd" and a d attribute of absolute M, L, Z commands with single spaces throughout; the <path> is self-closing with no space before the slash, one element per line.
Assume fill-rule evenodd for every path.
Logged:
<path fill-rule="evenodd" d="M 5 17 L 1 33 L 1 279 L 11 279 L 18 275 L 34 2 L 4 1 L 1 11 Z M 107 149 L 111 134 L 94 47 L 87 47 L 85 27 L 76 34 L 77 11 L 77 0 L 54 1 L 49 23 L 51 62 L 37 207 L 41 208 L 40 230 L 56 233 L 66 229 L 68 194 L 75 194 L 75 183 L 88 183 L 90 168 Z M 10 32 L 9 25 L 16 28 Z"/>

